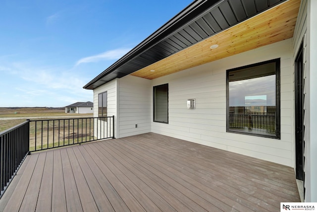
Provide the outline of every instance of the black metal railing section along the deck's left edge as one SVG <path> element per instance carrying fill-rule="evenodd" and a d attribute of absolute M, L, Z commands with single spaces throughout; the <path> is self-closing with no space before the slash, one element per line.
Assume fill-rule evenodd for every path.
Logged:
<path fill-rule="evenodd" d="M 0 133 L 0 198 L 29 152 L 29 121 Z"/>

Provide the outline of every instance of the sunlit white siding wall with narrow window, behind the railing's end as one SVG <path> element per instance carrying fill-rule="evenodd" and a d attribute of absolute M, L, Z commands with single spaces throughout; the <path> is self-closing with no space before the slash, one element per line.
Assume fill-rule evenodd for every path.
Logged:
<path fill-rule="evenodd" d="M 103 93 L 107 91 L 107 116 L 114 116 L 114 137 L 117 138 L 116 134 L 116 124 L 117 124 L 117 80 L 118 79 L 113 79 L 110 82 L 103 84 L 99 86 L 98 88 L 94 89 L 94 117 L 98 117 L 98 94 Z M 98 126 L 100 126 L 100 123 L 98 123 Z M 97 133 L 97 125 L 95 123 L 95 134 Z M 103 128 L 103 126 L 102 126 Z M 107 129 L 110 131 L 110 129 Z M 100 132 L 100 130 L 99 130 Z M 97 137 L 97 135 L 95 135 Z M 103 137 L 103 135 L 102 135 Z M 98 138 L 100 138 L 98 136 Z"/>

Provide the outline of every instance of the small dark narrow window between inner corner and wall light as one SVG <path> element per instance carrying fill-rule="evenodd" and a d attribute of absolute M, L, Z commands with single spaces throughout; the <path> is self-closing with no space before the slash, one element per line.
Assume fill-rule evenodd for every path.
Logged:
<path fill-rule="evenodd" d="M 153 87 L 153 120 L 168 123 L 168 84 Z"/>

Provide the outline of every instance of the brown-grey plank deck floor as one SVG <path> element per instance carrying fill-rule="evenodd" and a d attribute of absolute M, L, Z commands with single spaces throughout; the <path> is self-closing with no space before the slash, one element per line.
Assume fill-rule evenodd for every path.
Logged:
<path fill-rule="evenodd" d="M 278 212 L 280 202 L 300 202 L 292 168 L 149 133 L 32 153 L 0 211 Z"/>

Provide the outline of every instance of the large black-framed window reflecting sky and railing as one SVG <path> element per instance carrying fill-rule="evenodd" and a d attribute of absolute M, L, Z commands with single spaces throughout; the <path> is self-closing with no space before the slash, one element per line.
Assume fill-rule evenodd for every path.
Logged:
<path fill-rule="evenodd" d="M 227 70 L 227 132 L 280 139 L 280 59 Z"/>

